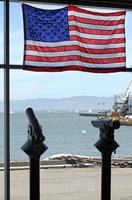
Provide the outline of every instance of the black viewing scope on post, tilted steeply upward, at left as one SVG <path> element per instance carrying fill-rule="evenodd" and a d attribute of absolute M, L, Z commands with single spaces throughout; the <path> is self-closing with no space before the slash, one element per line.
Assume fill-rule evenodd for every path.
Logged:
<path fill-rule="evenodd" d="M 45 136 L 32 108 L 26 110 L 29 121 L 28 138 L 21 149 L 29 156 L 30 200 L 40 200 L 40 156 L 48 149 Z"/>

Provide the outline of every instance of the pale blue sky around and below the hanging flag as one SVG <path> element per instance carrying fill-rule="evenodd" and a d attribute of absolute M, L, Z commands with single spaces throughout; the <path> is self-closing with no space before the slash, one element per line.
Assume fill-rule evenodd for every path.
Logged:
<path fill-rule="evenodd" d="M 34 4 L 31 4 L 34 5 Z M 35 5 L 36 6 L 36 5 Z M 60 6 L 37 5 L 46 9 Z M 92 8 L 89 8 L 92 9 Z M 94 8 L 95 9 L 95 8 Z M 100 9 L 98 8 L 97 11 Z M 106 8 L 103 9 L 106 11 Z M 113 11 L 113 10 L 112 10 Z M 114 10 L 115 11 L 115 10 Z M 0 64 L 3 63 L 3 3 L 0 2 Z M 127 67 L 132 66 L 132 11 L 126 14 L 126 58 Z M 23 63 L 23 18 L 20 3 L 10 4 L 10 64 Z M 3 69 L 0 69 L 0 101 L 4 96 Z M 88 72 L 29 72 L 10 70 L 11 100 L 37 98 L 67 98 L 72 96 L 113 96 L 124 93 L 132 73 L 94 74 Z"/>

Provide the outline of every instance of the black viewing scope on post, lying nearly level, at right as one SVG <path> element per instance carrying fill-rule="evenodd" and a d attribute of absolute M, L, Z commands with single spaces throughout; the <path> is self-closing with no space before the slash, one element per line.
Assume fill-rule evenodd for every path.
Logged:
<path fill-rule="evenodd" d="M 120 127 L 118 120 L 93 120 L 92 125 L 99 128 L 99 140 L 94 146 L 102 155 L 101 200 L 111 199 L 111 155 L 119 147 L 114 140 L 114 130 Z"/>

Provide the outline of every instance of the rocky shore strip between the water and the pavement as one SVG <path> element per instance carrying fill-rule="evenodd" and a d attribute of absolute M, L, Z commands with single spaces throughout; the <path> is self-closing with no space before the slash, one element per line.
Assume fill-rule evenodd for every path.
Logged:
<path fill-rule="evenodd" d="M 40 161 L 40 168 L 66 167 L 98 167 L 101 166 L 101 157 L 87 157 L 72 154 L 57 154 Z M 29 161 L 11 161 L 11 169 L 29 169 Z M 111 167 L 132 168 L 132 157 L 117 157 L 111 159 Z M 0 162 L 0 170 L 4 163 Z"/>

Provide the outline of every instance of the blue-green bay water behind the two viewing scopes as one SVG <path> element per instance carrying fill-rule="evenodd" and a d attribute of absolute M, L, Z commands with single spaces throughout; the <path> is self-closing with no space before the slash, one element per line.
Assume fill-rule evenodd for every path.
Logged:
<path fill-rule="evenodd" d="M 42 159 L 55 154 L 74 154 L 82 156 L 98 156 L 99 151 L 94 143 L 99 139 L 99 129 L 91 125 L 94 117 L 82 117 L 72 112 L 35 112 L 42 126 L 48 150 Z M 28 160 L 21 150 L 27 140 L 28 119 L 24 112 L 11 114 L 10 149 L 11 160 Z M 115 140 L 120 147 L 113 157 L 132 156 L 132 126 L 121 126 L 115 130 Z M 3 113 L 0 114 L 0 161 L 4 157 Z"/>

